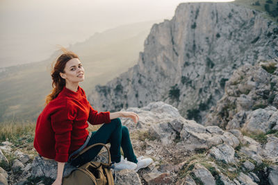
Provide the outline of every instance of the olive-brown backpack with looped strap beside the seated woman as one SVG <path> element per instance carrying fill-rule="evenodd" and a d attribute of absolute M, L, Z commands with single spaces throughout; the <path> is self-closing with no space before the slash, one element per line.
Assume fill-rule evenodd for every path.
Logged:
<path fill-rule="evenodd" d="M 79 154 L 76 157 L 79 157 L 79 155 L 82 155 L 90 148 L 99 145 L 104 146 L 108 151 L 108 164 L 97 161 L 90 161 L 87 164 L 84 164 L 83 166 L 80 166 L 79 168 L 73 170 L 72 173 L 70 173 L 70 175 L 67 175 L 67 177 L 64 177 L 62 183 L 63 185 L 114 184 L 113 174 L 111 172 L 111 155 L 106 145 L 104 145 L 103 143 L 96 143 L 92 146 L 88 146 L 87 148 L 79 152 Z"/>

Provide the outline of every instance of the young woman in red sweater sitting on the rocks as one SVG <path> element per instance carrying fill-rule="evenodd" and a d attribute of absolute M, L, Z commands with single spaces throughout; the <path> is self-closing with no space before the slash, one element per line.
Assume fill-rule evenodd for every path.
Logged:
<path fill-rule="evenodd" d="M 101 146 L 85 152 L 74 160 L 86 146 L 94 143 L 111 143 L 111 160 L 115 170 L 139 170 L 152 163 L 152 159 L 138 157 L 133 152 L 129 130 L 122 126 L 119 117 L 132 118 L 138 123 L 134 112 L 97 112 L 88 102 L 85 92 L 79 87 L 84 80 L 84 69 L 79 57 L 72 51 L 63 49 L 51 73 L 52 92 L 46 98 L 46 107 L 38 117 L 35 127 L 34 147 L 47 159 L 58 162 L 57 178 L 54 184 L 61 184 L 65 162 L 82 166 L 94 159 Z M 104 123 L 96 132 L 89 133 L 88 122 L 92 125 Z M 124 157 L 120 154 L 120 147 Z"/>

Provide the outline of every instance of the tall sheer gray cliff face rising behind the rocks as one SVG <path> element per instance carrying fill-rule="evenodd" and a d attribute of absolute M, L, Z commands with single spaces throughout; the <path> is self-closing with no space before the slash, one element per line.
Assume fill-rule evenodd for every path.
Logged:
<path fill-rule="evenodd" d="M 99 111 L 162 100 L 204 122 L 234 69 L 278 55 L 278 27 L 259 12 L 231 3 L 181 3 L 154 24 L 138 64 L 89 97 Z"/>

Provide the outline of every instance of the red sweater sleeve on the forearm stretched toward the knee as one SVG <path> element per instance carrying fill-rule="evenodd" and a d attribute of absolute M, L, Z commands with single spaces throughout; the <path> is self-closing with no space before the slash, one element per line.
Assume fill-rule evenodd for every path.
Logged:
<path fill-rule="evenodd" d="M 89 104 L 90 105 L 90 104 Z M 93 109 L 90 105 L 90 112 L 88 121 L 92 125 L 99 125 L 102 123 L 110 123 L 110 112 L 97 112 L 97 110 Z"/>

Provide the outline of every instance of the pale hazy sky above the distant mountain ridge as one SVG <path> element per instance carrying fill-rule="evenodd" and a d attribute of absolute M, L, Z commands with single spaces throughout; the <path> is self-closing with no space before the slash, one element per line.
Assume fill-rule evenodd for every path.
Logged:
<path fill-rule="evenodd" d="M 231 0 L 228 0 L 231 1 Z M 122 24 L 172 19 L 180 0 L 0 0 L 0 67 L 47 59 Z"/>

